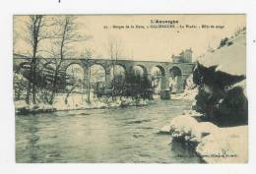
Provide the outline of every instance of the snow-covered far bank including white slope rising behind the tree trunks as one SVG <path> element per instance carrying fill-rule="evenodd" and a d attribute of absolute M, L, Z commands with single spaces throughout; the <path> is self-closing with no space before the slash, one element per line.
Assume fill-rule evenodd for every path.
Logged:
<path fill-rule="evenodd" d="M 94 93 L 91 93 L 90 102 L 87 102 L 87 95 L 78 93 L 70 94 L 65 103 L 66 94 L 58 94 L 55 96 L 52 105 L 46 103 L 27 104 L 25 100 L 15 101 L 15 108 L 19 112 L 23 111 L 38 111 L 48 112 L 56 110 L 79 110 L 79 109 L 100 109 L 100 108 L 114 108 L 121 106 L 143 106 L 153 104 L 154 100 L 139 99 L 135 100 L 131 97 L 116 97 L 116 100 L 112 100 L 111 97 L 104 97 L 98 99 Z"/>

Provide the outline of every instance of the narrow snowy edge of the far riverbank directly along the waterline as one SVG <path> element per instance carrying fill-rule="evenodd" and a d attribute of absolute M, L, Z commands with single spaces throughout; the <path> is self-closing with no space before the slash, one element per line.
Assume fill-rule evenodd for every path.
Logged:
<path fill-rule="evenodd" d="M 104 109 L 104 108 L 117 108 L 127 106 L 146 106 L 154 104 L 154 100 L 150 99 L 132 99 L 130 97 L 123 97 L 112 100 L 110 98 L 104 98 L 102 101 L 98 99 L 92 99 L 91 102 L 70 102 L 65 103 L 64 100 L 58 98 L 58 102 L 54 102 L 52 105 L 46 103 L 28 104 L 25 100 L 15 101 L 16 114 L 37 114 L 47 113 L 55 111 L 66 110 L 84 110 L 84 109 Z"/>

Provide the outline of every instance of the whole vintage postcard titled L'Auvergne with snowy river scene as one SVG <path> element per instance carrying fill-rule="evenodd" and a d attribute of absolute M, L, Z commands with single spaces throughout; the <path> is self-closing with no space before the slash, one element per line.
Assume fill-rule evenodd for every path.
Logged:
<path fill-rule="evenodd" d="M 14 15 L 18 163 L 247 163 L 246 15 Z"/>

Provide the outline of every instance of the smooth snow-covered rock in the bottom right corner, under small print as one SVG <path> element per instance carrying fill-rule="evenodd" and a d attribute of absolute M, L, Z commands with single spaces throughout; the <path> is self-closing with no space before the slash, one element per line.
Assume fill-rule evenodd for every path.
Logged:
<path fill-rule="evenodd" d="M 248 126 L 221 128 L 202 139 L 197 153 L 208 163 L 248 161 Z"/>

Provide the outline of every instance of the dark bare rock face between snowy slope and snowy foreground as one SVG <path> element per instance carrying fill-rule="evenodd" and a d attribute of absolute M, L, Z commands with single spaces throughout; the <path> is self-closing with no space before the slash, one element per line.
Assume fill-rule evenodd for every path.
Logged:
<path fill-rule="evenodd" d="M 217 71 L 217 66 L 197 64 L 193 78 L 199 86 L 196 111 L 219 126 L 241 126 L 248 123 L 248 101 L 245 96 L 245 76 Z"/>

